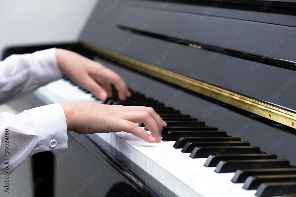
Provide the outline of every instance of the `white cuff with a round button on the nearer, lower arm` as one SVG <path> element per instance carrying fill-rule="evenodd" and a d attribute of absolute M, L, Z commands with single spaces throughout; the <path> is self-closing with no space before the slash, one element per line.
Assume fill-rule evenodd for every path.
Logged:
<path fill-rule="evenodd" d="M 39 136 L 39 147 L 36 146 L 34 154 L 68 148 L 67 122 L 61 105 L 55 103 L 28 111 L 33 116 Z M 50 146 L 52 139 L 56 140 L 56 143 Z"/>

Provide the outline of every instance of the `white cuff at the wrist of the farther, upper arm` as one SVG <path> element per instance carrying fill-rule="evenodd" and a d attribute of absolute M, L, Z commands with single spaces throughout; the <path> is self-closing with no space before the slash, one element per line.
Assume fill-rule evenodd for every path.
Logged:
<path fill-rule="evenodd" d="M 32 53 L 36 77 L 41 84 L 38 86 L 43 86 L 62 78 L 62 74 L 57 66 L 56 49 L 50 48 Z"/>

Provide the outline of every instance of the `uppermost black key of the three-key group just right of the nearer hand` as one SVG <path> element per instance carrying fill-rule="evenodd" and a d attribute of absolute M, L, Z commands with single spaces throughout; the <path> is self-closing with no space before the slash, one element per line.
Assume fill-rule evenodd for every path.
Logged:
<path fill-rule="evenodd" d="M 180 137 L 177 139 L 173 147 L 182 149 L 189 141 L 241 141 L 239 137 Z"/>

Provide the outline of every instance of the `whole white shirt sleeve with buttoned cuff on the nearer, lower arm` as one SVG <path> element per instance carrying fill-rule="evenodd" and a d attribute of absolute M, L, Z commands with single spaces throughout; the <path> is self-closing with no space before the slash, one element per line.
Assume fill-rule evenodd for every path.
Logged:
<path fill-rule="evenodd" d="M 0 134 L 0 179 L 35 153 L 67 148 L 66 117 L 58 103 L 17 115 L 1 113 Z"/>

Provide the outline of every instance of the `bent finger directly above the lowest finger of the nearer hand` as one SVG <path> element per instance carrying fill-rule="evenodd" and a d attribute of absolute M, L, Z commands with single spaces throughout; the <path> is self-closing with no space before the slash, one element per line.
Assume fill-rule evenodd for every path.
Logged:
<path fill-rule="evenodd" d="M 151 135 L 156 138 L 156 142 L 161 141 L 161 136 L 159 133 L 159 126 L 156 121 L 152 118 L 147 111 L 131 111 L 124 113 L 124 118 L 127 121 L 133 123 L 144 123 L 147 129 L 151 132 Z"/>

